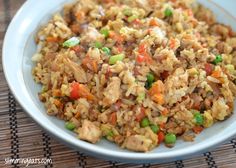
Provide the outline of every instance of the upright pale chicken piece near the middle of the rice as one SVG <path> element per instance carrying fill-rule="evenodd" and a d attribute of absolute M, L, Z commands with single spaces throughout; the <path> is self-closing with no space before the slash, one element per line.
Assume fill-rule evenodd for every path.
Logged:
<path fill-rule="evenodd" d="M 120 84 L 121 80 L 118 77 L 112 77 L 111 82 L 108 84 L 107 88 L 104 90 L 103 104 L 105 106 L 115 103 L 120 97 Z"/>

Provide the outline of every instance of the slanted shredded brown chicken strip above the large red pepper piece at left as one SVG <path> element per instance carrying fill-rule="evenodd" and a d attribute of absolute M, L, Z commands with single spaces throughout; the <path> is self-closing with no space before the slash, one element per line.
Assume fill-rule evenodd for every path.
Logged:
<path fill-rule="evenodd" d="M 77 82 L 79 82 L 79 83 L 87 83 L 88 82 L 86 72 L 84 71 L 84 69 L 80 65 L 71 61 L 69 58 L 65 58 L 64 63 L 66 66 L 68 66 L 72 70 L 74 78 Z"/>

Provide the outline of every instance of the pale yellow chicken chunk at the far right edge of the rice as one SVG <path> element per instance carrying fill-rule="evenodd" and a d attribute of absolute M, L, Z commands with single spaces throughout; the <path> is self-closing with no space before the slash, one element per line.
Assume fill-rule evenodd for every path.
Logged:
<path fill-rule="evenodd" d="M 212 117 L 217 120 L 224 120 L 229 115 L 229 106 L 223 98 L 214 101 L 212 106 Z"/>

